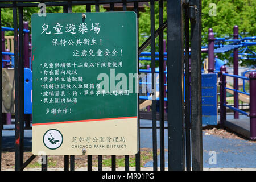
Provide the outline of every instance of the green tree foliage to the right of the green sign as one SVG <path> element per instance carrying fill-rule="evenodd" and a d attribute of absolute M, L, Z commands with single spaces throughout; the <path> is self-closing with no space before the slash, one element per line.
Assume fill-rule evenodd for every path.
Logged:
<path fill-rule="evenodd" d="M 210 3 L 216 4 L 216 16 L 209 16 Z M 212 28 L 215 37 L 233 38 L 233 27 L 237 25 L 242 37 L 256 36 L 256 1 L 255 0 L 202 0 L 202 46 L 208 44 L 208 29 Z M 150 36 L 150 7 L 145 8 L 146 12 L 140 13 L 139 17 L 139 43 L 143 43 Z M 164 19 L 166 20 L 166 5 L 164 5 Z M 155 28 L 158 28 L 158 3 L 155 3 Z M 166 37 L 166 34 L 164 34 Z M 255 46 L 250 49 L 255 51 Z M 156 41 L 156 50 L 158 42 Z M 150 47 L 147 48 L 150 52 Z M 233 64 L 233 57 L 228 53 L 219 53 L 218 57 L 222 60 L 228 60 Z M 202 58 L 207 54 L 202 54 Z M 202 60 L 203 60 L 202 59 Z M 254 60 L 241 60 L 241 65 L 255 65 Z M 148 62 L 149 63 L 149 62 Z"/>

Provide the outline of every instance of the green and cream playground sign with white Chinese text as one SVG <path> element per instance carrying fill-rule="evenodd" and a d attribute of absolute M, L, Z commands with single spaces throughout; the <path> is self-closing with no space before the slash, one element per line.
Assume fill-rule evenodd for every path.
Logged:
<path fill-rule="evenodd" d="M 131 135 L 137 140 L 136 14 L 47 13 L 33 14 L 31 21 L 34 154 L 47 148 L 51 149 L 47 154 L 80 154 L 80 149 L 88 148 L 90 142 L 104 149 L 113 142 L 120 148 L 126 144 L 117 153 L 130 154 L 129 142 L 134 141 L 119 130 L 128 127 L 129 119 L 136 121 L 136 134 Z M 117 121 L 127 126 L 115 128 Z M 97 134 L 102 126 L 104 134 Z M 86 135 L 87 130 L 94 130 L 94 135 Z M 63 136 L 58 147 L 51 146 L 60 135 L 54 137 L 53 131 Z M 44 137 L 46 133 L 49 137 Z M 94 143 L 88 137 L 94 138 Z M 91 148 L 88 154 L 105 154 L 104 150 L 96 150 L 97 146 Z"/>

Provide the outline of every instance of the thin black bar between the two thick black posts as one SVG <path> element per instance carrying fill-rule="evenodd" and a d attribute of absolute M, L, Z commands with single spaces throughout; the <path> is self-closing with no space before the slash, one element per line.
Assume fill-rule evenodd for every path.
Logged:
<path fill-rule="evenodd" d="M 185 30 L 185 143 L 186 143 L 186 168 L 191 171 L 191 117 L 190 117 L 190 71 L 189 71 L 189 9 L 184 9 Z"/>

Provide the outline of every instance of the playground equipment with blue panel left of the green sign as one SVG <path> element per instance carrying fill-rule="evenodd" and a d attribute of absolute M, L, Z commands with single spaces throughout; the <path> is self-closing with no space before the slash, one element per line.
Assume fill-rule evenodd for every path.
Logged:
<path fill-rule="evenodd" d="M 32 113 L 32 72 L 31 72 L 31 34 L 28 30 L 28 22 L 23 23 L 24 32 L 24 120 L 25 128 L 31 128 L 31 113 Z M 2 72 L 5 77 L 3 81 L 3 121 L 7 125 L 11 124 L 11 113 L 15 113 L 15 96 L 14 96 L 14 36 L 5 36 L 6 31 L 14 31 L 14 28 L 1 27 L 1 44 L 2 44 Z M 10 85 L 9 89 L 8 86 Z M 8 109 L 6 105 L 9 106 Z"/>

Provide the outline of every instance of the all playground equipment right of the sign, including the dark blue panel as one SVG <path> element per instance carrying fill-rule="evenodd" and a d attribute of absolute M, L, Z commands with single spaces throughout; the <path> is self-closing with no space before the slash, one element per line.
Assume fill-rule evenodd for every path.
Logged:
<path fill-rule="evenodd" d="M 220 124 L 224 125 L 226 127 L 229 127 L 236 131 L 237 133 L 240 133 L 244 135 L 247 138 L 250 138 L 252 140 L 255 140 L 256 138 L 256 121 L 255 121 L 255 69 L 248 69 L 247 71 L 243 72 L 243 76 L 238 75 L 238 59 L 249 59 L 249 60 L 256 60 L 256 53 L 251 51 L 249 46 L 256 45 L 256 37 L 246 37 L 241 39 L 238 39 L 238 26 L 234 26 L 234 39 L 225 39 L 225 38 L 214 38 L 213 30 L 212 28 L 209 28 L 209 44 L 208 46 L 202 46 L 201 52 L 202 53 L 208 53 L 208 59 L 204 61 L 204 69 L 202 70 L 202 112 L 203 112 L 203 125 L 217 125 L 217 113 L 218 108 L 220 110 Z M 228 43 L 228 44 L 226 44 Z M 238 48 L 242 48 L 240 51 L 238 51 Z M 233 51 L 233 53 L 230 54 L 230 56 L 234 59 L 234 75 L 230 75 L 228 73 L 224 73 L 225 62 L 218 59 L 217 56 L 214 56 L 214 53 L 225 53 L 228 51 Z M 249 53 L 248 53 L 249 52 Z M 142 56 L 149 56 L 150 53 L 141 53 L 140 60 L 150 60 L 150 57 L 142 57 Z M 155 55 L 157 56 L 158 53 L 156 52 Z M 167 54 L 164 53 L 164 56 Z M 156 58 L 155 60 L 159 60 Z M 167 59 L 164 59 L 166 61 Z M 166 64 L 164 64 L 166 65 Z M 151 69 L 149 65 L 147 65 L 147 70 L 139 69 L 139 72 L 146 72 L 151 73 Z M 155 73 L 158 73 L 158 70 L 156 69 Z M 184 73 L 185 74 L 185 73 Z M 245 74 L 249 75 L 248 77 L 245 76 Z M 217 79 L 212 77 L 213 80 L 209 80 L 210 77 L 207 78 L 209 75 L 218 75 L 220 81 L 218 84 Z M 233 77 L 234 78 L 234 87 L 230 84 L 226 83 L 225 81 L 222 81 L 222 79 L 226 79 L 226 77 Z M 156 85 L 159 84 L 159 81 L 157 81 L 158 76 L 156 76 Z M 225 78 L 223 78 L 225 77 Z M 151 77 L 150 77 L 151 78 Z M 205 79 L 204 79 L 205 78 Z M 242 85 L 242 91 L 238 89 L 238 81 L 237 79 L 243 80 Z M 140 84 L 150 84 L 151 80 L 149 81 L 142 81 Z M 250 92 L 246 92 L 245 89 L 245 80 L 249 81 L 250 85 Z M 225 86 L 221 86 L 222 83 L 225 82 Z M 164 86 L 166 86 L 166 77 L 164 78 Z M 207 86 L 205 86 L 207 85 Z M 215 85 L 215 86 L 214 86 Z M 220 85 L 220 93 L 217 93 L 217 86 Z M 205 89 L 208 88 L 208 89 Z M 210 90 L 209 88 L 213 88 L 213 90 Z M 156 90 L 159 88 L 156 86 Z M 225 91 L 223 90 L 225 89 Z M 167 90 L 164 89 L 164 92 L 167 93 Z M 234 107 L 232 105 L 226 103 L 226 92 L 234 95 Z M 225 94 L 225 95 L 224 95 Z M 185 95 L 185 93 L 184 93 Z M 220 107 L 218 107 L 218 95 L 220 95 Z M 156 101 L 159 100 L 159 94 L 156 92 Z M 166 95 L 165 95 L 166 96 Z M 225 101 L 224 101 L 225 97 Z M 145 100 L 140 104 L 140 109 L 146 109 L 146 112 L 142 111 L 141 118 L 150 119 L 148 117 L 148 113 L 150 113 L 150 105 L 152 104 L 152 96 L 147 94 L 147 96 L 140 96 L 141 100 Z M 167 101 L 167 98 L 164 97 L 164 101 Z M 249 113 L 246 113 L 245 111 L 239 109 L 238 102 L 242 101 L 244 103 L 249 104 L 250 110 Z M 226 121 L 226 107 L 228 109 L 234 111 L 234 119 L 236 121 L 233 121 L 232 124 L 230 124 L 229 121 Z M 242 121 L 239 121 L 239 115 L 243 114 L 249 117 L 250 121 L 248 119 L 240 119 Z M 239 125 L 239 123 L 242 122 L 242 125 Z M 238 126 L 235 126 L 238 124 Z M 246 127 L 244 129 L 243 127 Z"/>

